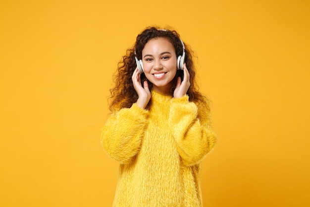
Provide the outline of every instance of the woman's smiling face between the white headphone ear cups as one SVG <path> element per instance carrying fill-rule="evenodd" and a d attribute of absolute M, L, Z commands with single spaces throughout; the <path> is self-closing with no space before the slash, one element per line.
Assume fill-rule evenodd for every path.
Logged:
<path fill-rule="evenodd" d="M 171 42 L 164 37 L 149 40 L 142 50 L 142 62 L 153 89 L 168 94 L 177 70 L 177 57 Z"/>

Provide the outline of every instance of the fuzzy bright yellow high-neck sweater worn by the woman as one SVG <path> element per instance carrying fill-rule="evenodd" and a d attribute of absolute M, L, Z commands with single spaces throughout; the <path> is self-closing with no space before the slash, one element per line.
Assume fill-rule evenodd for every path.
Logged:
<path fill-rule="evenodd" d="M 200 162 L 216 142 L 205 107 L 152 91 L 150 110 L 109 117 L 102 144 L 120 163 L 113 207 L 202 207 Z"/>

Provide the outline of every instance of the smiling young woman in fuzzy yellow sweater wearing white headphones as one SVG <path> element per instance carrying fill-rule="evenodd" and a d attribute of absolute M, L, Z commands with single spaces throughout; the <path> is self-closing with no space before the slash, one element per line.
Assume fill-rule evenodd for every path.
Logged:
<path fill-rule="evenodd" d="M 102 144 L 120 163 L 113 207 L 202 207 L 200 163 L 216 142 L 191 50 L 146 28 L 114 76 Z"/>

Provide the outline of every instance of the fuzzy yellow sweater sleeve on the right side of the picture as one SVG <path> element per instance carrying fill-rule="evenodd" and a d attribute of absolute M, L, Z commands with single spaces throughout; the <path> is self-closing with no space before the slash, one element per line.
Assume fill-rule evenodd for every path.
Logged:
<path fill-rule="evenodd" d="M 197 107 L 188 95 L 171 100 L 169 127 L 185 165 L 202 161 L 216 142 L 206 105 Z"/>

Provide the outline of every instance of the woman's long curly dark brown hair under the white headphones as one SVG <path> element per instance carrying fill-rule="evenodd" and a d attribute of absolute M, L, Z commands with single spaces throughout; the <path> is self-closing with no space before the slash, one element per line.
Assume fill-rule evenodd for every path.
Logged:
<path fill-rule="evenodd" d="M 136 43 L 133 48 L 128 48 L 126 51 L 126 55 L 124 55 L 121 61 L 118 63 L 118 68 L 116 73 L 113 75 L 113 80 L 115 86 L 110 89 L 111 96 L 109 97 L 109 109 L 110 111 L 119 110 L 121 108 L 130 108 L 133 103 L 136 103 L 138 100 L 138 94 L 134 89 L 134 85 L 132 82 L 132 74 L 134 70 L 137 68 L 137 64 L 135 61 L 135 56 L 139 60 L 142 59 L 142 50 L 146 43 L 153 39 L 163 37 L 168 39 L 173 45 L 176 56 L 181 56 L 183 54 L 183 45 L 181 43 L 179 34 L 175 30 L 162 30 L 158 27 L 147 27 L 143 30 L 136 38 Z M 197 104 L 206 104 L 208 108 L 208 99 L 206 96 L 202 95 L 198 91 L 198 86 L 195 81 L 196 72 L 195 66 L 193 64 L 193 51 L 187 46 L 185 43 L 185 63 L 186 68 L 190 73 L 190 87 L 187 91 L 187 95 L 189 96 L 189 100 L 193 101 Z M 136 55 L 135 55 L 136 52 Z M 177 77 L 181 77 L 183 80 L 183 70 L 178 69 L 174 79 L 173 87 L 171 88 L 171 95 L 173 96 L 173 92 L 176 86 Z M 153 84 L 146 78 L 145 74 L 141 74 L 141 83 L 147 80 L 149 84 L 150 90 L 153 87 Z M 147 108 L 150 107 L 150 102 Z"/>

